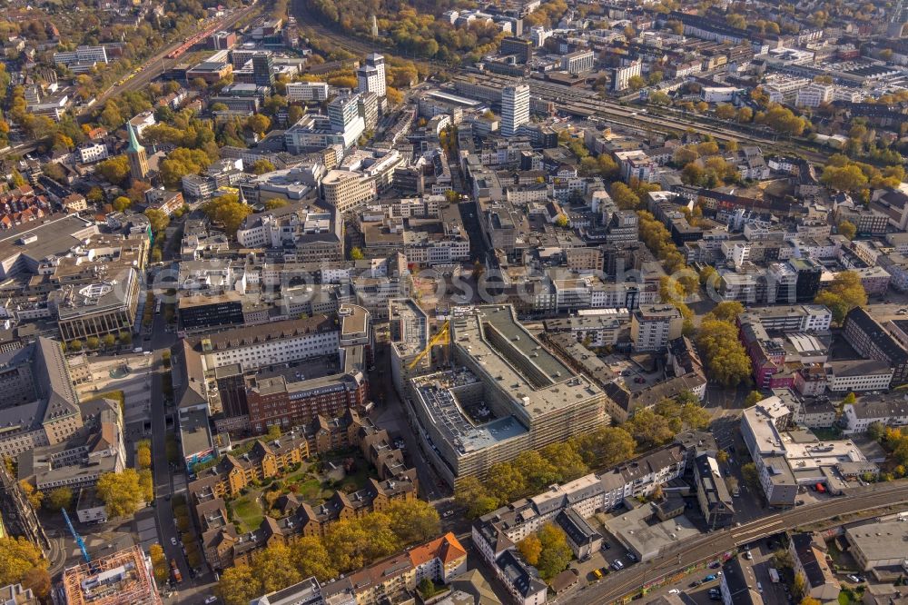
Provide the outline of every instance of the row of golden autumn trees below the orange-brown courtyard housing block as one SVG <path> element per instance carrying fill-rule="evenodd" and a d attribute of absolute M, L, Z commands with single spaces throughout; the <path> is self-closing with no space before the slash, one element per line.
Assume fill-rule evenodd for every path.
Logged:
<path fill-rule="evenodd" d="M 332 524 L 324 538 L 306 536 L 260 550 L 250 564 L 224 571 L 217 592 L 226 605 L 246 605 L 310 576 L 328 580 L 360 569 L 439 531 L 439 514 L 429 503 L 394 501 L 384 511 Z"/>

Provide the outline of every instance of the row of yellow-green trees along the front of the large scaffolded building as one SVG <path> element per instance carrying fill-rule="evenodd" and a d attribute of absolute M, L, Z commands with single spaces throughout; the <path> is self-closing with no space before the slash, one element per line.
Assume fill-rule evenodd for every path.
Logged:
<path fill-rule="evenodd" d="M 553 483 L 582 477 L 627 461 L 638 447 L 648 449 L 671 441 L 676 432 L 701 429 L 709 415 L 696 396 L 685 392 L 676 400 L 664 399 L 652 409 L 641 409 L 623 426 L 602 427 L 541 450 L 521 452 L 508 462 L 489 468 L 484 481 L 467 477 L 454 493 L 455 501 L 474 518 L 510 501 L 544 491 Z"/>

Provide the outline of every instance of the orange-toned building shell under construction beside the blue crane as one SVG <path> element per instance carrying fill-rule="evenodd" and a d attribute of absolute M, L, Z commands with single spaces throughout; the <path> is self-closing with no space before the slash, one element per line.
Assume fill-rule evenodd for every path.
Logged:
<path fill-rule="evenodd" d="M 153 605 L 161 603 L 151 560 L 140 546 L 119 550 L 63 573 L 68 605 Z"/>

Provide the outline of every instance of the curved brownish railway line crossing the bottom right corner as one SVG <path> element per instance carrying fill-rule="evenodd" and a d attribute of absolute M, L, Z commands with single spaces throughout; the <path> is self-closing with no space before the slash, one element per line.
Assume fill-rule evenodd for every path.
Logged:
<path fill-rule="evenodd" d="M 856 488 L 852 495 L 841 496 L 817 504 L 808 504 L 789 511 L 782 511 L 762 519 L 745 523 L 740 527 L 705 534 L 686 541 L 683 550 L 669 551 L 656 559 L 638 563 L 618 571 L 584 590 L 576 602 L 585 604 L 611 603 L 638 590 L 647 581 L 656 580 L 667 574 L 684 570 L 700 560 L 718 553 L 734 550 L 736 547 L 774 534 L 794 529 L 811 521 L 822 521 L 836 515 L 864 511 L 869 508 L 908 501 L 908 481 L 877 483 Z"/>

